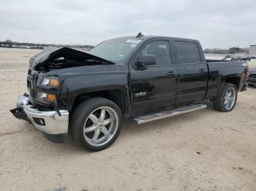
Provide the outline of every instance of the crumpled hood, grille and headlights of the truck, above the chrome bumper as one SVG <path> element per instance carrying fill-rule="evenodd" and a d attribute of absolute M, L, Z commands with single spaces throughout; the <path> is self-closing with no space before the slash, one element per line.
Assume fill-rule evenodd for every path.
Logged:
<path fill-rule="evenodd" d="M 27 87 L 31 104 L 40 109 L 59 110 L 58 94 L 61 82 L 58 73 L 54 73 L 55 70 L 107 64 L 113 63 L 68 47 L 49 47 L 39 52 L 29 61 Z"/>

